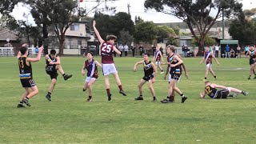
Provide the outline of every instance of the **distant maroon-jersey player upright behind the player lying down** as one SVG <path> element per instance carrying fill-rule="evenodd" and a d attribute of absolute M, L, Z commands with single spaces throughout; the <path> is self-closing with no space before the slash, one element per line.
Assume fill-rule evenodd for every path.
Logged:
<path fill-rule="evenodd" d="M 215 58 L 213 51 L 210 51 L 209 47 L 206 46 L 206 51 L 204 53 L 204 56 L 202 58 L 202 61 L 200 62 L 200 64 L 202 64 L 203 61 L 206 61 L 206 74 L 205 74 L 205 80 L 207 79 L 208 76 L 208 72 L 210 71 L 210 74 L 213 74 L 214 78 L 216 79 L 216 74 L 214 74 L 214 70 L 212 69 L 211 65 L 212 65 L 212 58 L 214 58 L 214 60 L 218 63 L 217 58 Z"/>

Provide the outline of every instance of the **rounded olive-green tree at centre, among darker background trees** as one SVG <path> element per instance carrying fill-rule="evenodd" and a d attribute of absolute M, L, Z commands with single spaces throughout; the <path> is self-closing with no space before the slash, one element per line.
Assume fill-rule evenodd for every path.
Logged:
<path fill-rule="evenodd" d="M 153 22 L 139 22 L 135 25 L 134 41 L 135 42 L 152 42 L 157 38 L 158 29 Z"/>

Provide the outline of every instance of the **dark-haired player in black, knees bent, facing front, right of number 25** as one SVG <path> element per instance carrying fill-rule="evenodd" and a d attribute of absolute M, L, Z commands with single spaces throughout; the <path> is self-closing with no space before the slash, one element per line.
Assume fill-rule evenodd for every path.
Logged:
<path fill-rule="evenodd" d="M 141 82 L 139 82 L 139 84 L 138 84 L 139 97 L 134 98 L 134 99 L 135 100 L 143 100 L 142 86 L 146 82 L 149 82 L 149 88 L 150 88 L 150 91 L 151 91 L 151 94 L 153 97 L 153 102 L 155 102 L 155 101 L 157 101 L 157 98 L 155 97 L 153 83 L 154 83 L 156 75 L 157 75 L 157 68 L 154 66 L 154 63 L 150 61 L 149 54 L 144 54 L 144 60 L 135 63 L 134 72 L 137 71 L 137 66 L 139 64 L 143 65 L 144 77 L 141 79 Z"/>

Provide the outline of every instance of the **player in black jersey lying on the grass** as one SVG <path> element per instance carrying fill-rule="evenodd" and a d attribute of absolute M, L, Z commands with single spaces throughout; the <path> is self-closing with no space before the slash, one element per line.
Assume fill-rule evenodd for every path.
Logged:
<path fill-rule="evenodd" d="M 221 89 L 218 90 L 217 88 Z M 230 94 L 230 92 L 234 92 L 236 94 Z M 210 98 L 227 98 L 227 97 L 235 97 L 237 94 L 247 95 L 246 91 L 238 90 L 233 87 L 226 87 L 217 85 L 215 83 L 210 83 L 210 81 L 205 82 L 205 90 L 200 93 L 201 98 L 205 98 L 205 96 L 209 95 Z"/>

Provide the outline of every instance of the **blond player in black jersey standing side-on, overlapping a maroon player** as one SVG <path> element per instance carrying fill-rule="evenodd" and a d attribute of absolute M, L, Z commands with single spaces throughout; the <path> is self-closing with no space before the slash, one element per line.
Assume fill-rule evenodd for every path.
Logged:
<path fill-rule="evenodd" d="M 169 62 L 163 62 L 162 64 L 168 64 L 170 65 L 170 83 L 168 86 L 168 97 L 166 99 L 163 99 L 161 102 L 162 103 L 170 103 L 173 102 L 170 98 L 170 96 L 173 96 L 174 90 L 178 92 L 178 94 L 181 95 L 182 97 L 182 103 L 186 101 L 186 97 L 184 94 L 182 94 L 182 91 L 178 89 L 176 86 L 176 83 L 178 82 L 178 79 L 181 76 L 181 68 L 180 66 L 182 65 L 183 61 L 181 58 L 179 58 L 177 55 L 174 54 L 175 48 L 174 46 L 167 46 L 166 48 L 167 54 L 170 55 Z"/>

